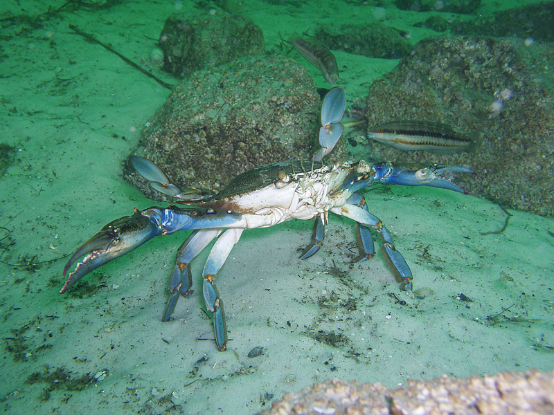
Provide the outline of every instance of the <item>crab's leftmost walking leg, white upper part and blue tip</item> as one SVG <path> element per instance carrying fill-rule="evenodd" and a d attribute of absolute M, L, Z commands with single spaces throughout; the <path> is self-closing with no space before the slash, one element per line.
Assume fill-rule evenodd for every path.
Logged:
<path fill-rule="evenodd" d="M 208 246 L 208 243 L 219 236 L 221 232 L 221 229 L 195 230 L 179 247 L 179 250 L 177 250 L 177 259 L 175 260 L 175 266 L 173 267 L 169 282 L 171 295 L 168 299 L 168 305 L 163 312 L 161 321 L 167 322 L 170 319 L 180 295 L 188 297 L 188 295 L 192 293 L 190 290 L 193 285 L 192 275 L 190 273 L 190 262 Z"/>

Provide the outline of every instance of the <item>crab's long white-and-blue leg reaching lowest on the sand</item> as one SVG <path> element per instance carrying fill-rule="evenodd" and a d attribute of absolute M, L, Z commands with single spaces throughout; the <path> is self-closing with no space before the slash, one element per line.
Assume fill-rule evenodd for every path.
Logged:
<path fill-rule="evenodd" d="M 208 255 L 202 278 L 204 284 L 202 292 L 204 293 L 204 302 L 206 308 L 213 314 L 213 330 L 215 332 L 215 344 L 217 349 L 224 351 L 227 347 L 227 329 L 225 325 L 225 315 L 223 313 L 223 302 L 220 299 L 220 294 L 213 284 L 213 279 L 220 272 L 223 264 L 235 243 L 240 239 L 240 235 L 244 229 L 228 229 L 223 232 L 222 236 L 215 241 L 214 246 Z"/>

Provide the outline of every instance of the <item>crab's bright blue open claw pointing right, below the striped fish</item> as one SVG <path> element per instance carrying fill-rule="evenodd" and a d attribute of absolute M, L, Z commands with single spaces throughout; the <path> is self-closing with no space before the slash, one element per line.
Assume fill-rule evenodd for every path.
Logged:
<path fill-rule="evenodd" d="M 452 173 L 475 173 L 472 169 L 458 166 L 440 165 L 393 165 L 392 163 L 379 163 L 374 165 L 375 180 L 380 183 L 405 186 L 433 186 L 441 187 L 454 192 L 467 194 L 465 190 L 447 178 Z"/>

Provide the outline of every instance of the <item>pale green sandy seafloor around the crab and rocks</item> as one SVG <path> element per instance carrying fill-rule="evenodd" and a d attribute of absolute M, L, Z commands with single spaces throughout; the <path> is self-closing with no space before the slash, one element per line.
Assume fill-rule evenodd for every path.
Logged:
<path fill-rule="evenodd" d="M 483 235 L 505 222 L 497 205 L 428 187 L 366 194 L 370 212 L 395 234 L 414 288 L 427 292 L 423 299 L 400 290 L 380 252 L 350 266 L 353 223 L 336 216 L 321 252 L 306 261 L 298 250 L 310 241 L 311 222 L 244 232 L 217 277 L 231 339 L 224 353 L 201 340 L 213 338 L 198 289 L 206 253 L 193 264 L 195 293 L 180 300 L 175 320 L 160 321 L 186 232 L 154 239 L 84 277 L 79 284 L 101 286 L 94 295 L 60 295 L 61 257 L 133 207 L 154 204 L 123 181 L 121 165 L 170 93 L 68 25 L 140 62 L 175 5 L 123 1 L 62 13 L 1 40 L 0 141 L 17 154 L 0 178 L 2 236 L 10 232 L 0 259 L 38 263 L 0 265 L 3 411 L 251 414 L 271 405 L 271 396 L 332 377 L 400 385 L 442 374 L 553 369 L 554 220 L 510 210 L 504 232 Z M 509 6 L 489 2 L 483 10 L 500 5 Z M 37 15 L 46 7 L 2 1 L 0 12 Z M 343 1 L 299 8 L 251 1 L 238 12 L 262 28 L 269 50 L 279 31 L 363 21 L 384 10 Z M 386 23 L 404 30 L 416 18 L 387 13 Z M 416 42 L 431 33 L 412 35 Z M 348 68 L 340 84 L 349 100 L 397 63 L 336 55 Z M 472 302 L 461 301 L 461 293 Z M 309 335 L 319 331 L 345 344 Z M 248 358 L 257 346 L 262 356 Z M 36 373 L 44 381 L 33 382 Z M 73 382 L 87 375 L 97 379 L 84 389 Z"/>

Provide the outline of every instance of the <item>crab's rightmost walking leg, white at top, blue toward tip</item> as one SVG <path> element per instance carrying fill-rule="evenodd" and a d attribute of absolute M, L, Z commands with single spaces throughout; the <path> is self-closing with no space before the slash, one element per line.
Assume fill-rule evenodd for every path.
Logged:
<path fill-rule="evenodd" d="M 380 221 L 377 216 L 370 214 L 364 208 L 359 208 L 358 206 L 350 203 L 345 203 L 339 208 L 333 208 L 332 212 L 353 219 L 358 223 L 361 223 L 361 225 L 365 225 L 368 228 L 375 230 L 375 232 L 381 236 L 386 254 L 391 259 L 391 262 L 400 274 L 400 277 L 404 279 L 406 291 L 410 291 L 412 288 L 411 280 L 413 278 L 410 267 L 406 264 L 406 260 L 402 257 L 402 254 L 396 250 L 393 243 L 393 236 L 391 232 L 388 232 L 388 229 L 383 226 L 382 221 Z"/>

